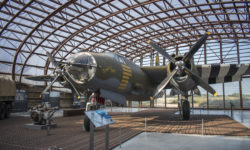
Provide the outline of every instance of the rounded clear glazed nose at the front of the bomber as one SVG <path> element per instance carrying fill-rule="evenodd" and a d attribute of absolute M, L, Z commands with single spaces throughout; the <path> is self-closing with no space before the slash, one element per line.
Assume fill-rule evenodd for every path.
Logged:
<path fill-rule="evenodd" d="M 96 72 L 95 58 L 87 52 L 77 53 L 68 59 L 68 71 L 72 80 L 83 84 L 91 80 Z"/>

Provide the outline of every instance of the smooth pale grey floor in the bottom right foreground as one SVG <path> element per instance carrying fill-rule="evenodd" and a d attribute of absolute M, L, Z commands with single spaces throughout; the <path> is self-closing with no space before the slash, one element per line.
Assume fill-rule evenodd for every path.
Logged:
<path fill-rule="evenodd" d="M 113 150 L 249 150 L 249 137 L 143 132 Z"/>

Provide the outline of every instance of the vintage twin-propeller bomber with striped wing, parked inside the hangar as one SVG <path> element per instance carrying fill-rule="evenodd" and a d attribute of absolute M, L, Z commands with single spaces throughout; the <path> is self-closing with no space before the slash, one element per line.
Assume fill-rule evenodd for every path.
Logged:
<path fill-rule="evenodd" d="M 55 66 L 53 75 L 30 76 L 31 80 L 54 82 L 72 89 L 79 98 L 84 93 L 99 93 L 105 99 L 125 104 L 126 100 L 146 101 L 157 98 L 163 89 L 172 89 L 181 94 L 181 114 L 184 120 L 190 117 L 188 91 L 199 94 L 201 86 L 213 95 L 216 91 L 209 85 L 237 81 L 242 75 L 250 74 L 249 64 L 205 64 L 195 65 L 193 55 L 205 43 L 206 32 L 185 55 L 169 55 L 163 48 L 148 41 L 154 50 L 165 56 L 167 66 L 139 67 L 130 60 L 115 53 L 80 52 L 72 55 L 66 62 L 56 62 L 47 53 Z M 89 94 L 90 95 L 90 94 Z"/>

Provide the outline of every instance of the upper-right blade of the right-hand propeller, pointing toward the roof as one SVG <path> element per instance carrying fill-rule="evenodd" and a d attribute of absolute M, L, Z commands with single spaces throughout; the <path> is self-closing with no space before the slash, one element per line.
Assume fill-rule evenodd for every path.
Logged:
<path fill-rule="evenodd" d="M 210 32 L 206 32 L 198 42 L 196 42 L 192 48 L 189 50 L 186 56 L 183 57 L 183 61 L 187 62 L 190 58 L 193 57 L 193 55 L 199 50 L 199 48 L 206 42 L 208 35 L 210 35 Z"/>

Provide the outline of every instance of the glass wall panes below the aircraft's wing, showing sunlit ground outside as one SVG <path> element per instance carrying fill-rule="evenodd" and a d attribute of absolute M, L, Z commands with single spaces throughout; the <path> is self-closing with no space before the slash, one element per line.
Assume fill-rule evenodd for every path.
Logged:
<path fill-rule="evenodd" d="M 242 79 L 242 99 L 243 99 L 243 108 L 250 109 L 250 78 Z M 198 86 L 198 89 L 201 92 L 201 96 L 193 95 L 193 107 L 194 108 L 214 108 L 214 109 L 223 109 L 224 105 L 226 109 L 230 109 L 231 104 L 233 108 L 240 109 L 240 90 L 239 90 L 239 81 L 224 83 L 224 93 L 225 93 L 225 103 L 223 101 L 223 84 L 211 84 L 211 86 L 218 93 L 217 96 L 205 91 L 203 88 Z M 178 108 L 178 95 L 170 96 L 170 89 L 166 90 L 166 107 L 167 108 Z M 191 95 L 191 93 L 189 93 Z M 180 96 L 181 98 L 181 96 Z M 207 102 L 208 99 L 208 102 Z M 192 108 L 192 96 L 189 96 L 190 107 Z M 209 107 L 207 107 L 207 104 Z M 139 102 L 132 101 L 132 107 L 139 107 Z M 150 107 L 150 101 L 142 101 L 142 107 Z M 154 101 L 154 107 L 165 107 L 165 95 L 161 98 L 158 98 Z"/>

